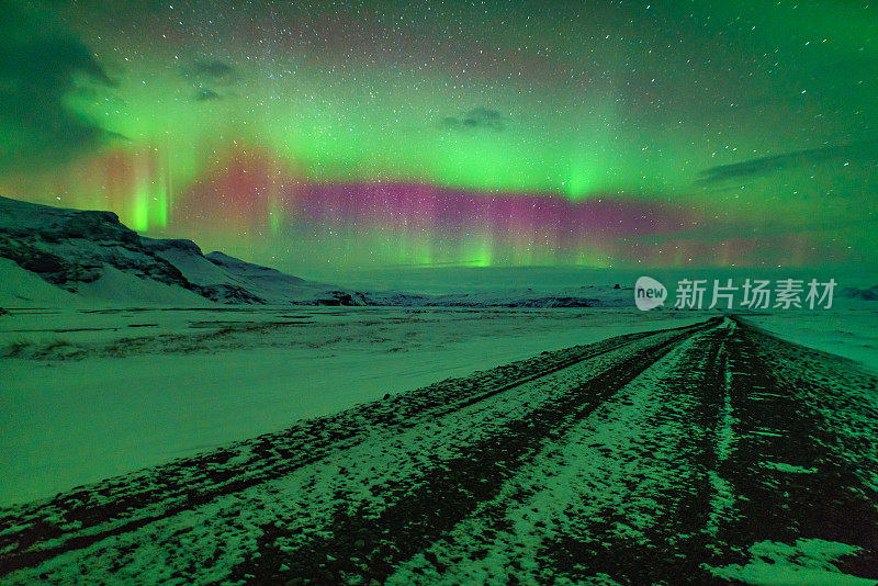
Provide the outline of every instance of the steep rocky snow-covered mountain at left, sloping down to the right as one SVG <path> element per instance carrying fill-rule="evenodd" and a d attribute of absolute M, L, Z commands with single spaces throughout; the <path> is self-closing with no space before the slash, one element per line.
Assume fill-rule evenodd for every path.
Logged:
<path fill-rule="evenodd" d="M 340 304 L 353 298 L 222 252 L 205 256 L 191 240 L 139 236 L 112 212 L 8 198 L 0 198 L 0 257 L 12 261 L 0 263 L 5 304 L 46 297 L 175 305 Z M 34 275 L 58 291 L 37 284 Z"/>

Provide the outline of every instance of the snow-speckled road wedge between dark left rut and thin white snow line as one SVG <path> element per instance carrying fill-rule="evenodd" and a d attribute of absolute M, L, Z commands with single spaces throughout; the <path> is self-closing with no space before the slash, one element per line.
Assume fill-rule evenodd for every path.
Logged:
<path fill-rule="evenodd" d="M 698 562 L 687 564 L 682 553 L 700 551 L 710 503 L 699 460 L 713 438 L 699 419 L 711 414 L 701 414 L 699 397 L 706 380 L 723 374 L 716 358 L 728 331 L 695 334 L 570 429 L 549 433 L 493 499 L 387 583 L 551 584 L 604 575 L 651 584 L 697 572 Z"/>

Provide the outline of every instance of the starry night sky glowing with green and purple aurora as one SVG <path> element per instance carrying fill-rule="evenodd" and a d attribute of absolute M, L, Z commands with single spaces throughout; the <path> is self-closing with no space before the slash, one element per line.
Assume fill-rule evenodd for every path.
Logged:
<path fill-rule="evenodd" d="M 0 194 L 301 275 L 874 266 L 878 5 L 0 0 Z"/>

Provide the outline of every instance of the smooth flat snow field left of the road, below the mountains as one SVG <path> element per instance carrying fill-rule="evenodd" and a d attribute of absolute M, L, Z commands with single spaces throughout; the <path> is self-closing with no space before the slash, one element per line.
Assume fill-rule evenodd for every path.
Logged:
<path fill-rule="evenodd" d="M 683 326 L 637 309 L 19 309 L 0 317 L 0 505 L 542 351 Z"/>

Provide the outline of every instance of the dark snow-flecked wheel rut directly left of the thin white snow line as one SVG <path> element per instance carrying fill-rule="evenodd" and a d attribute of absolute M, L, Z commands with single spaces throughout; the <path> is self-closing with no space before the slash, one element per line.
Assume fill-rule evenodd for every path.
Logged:
<path fill-rule="evenodd" d="M 633 455 L 638 465 L 627 493 L 619 495 L 631 506 L 610 502 L 543 545 L 558 574 L 574 581 L 607 575 L 622 584 L 709 583 L 699 566 L 712 544 L 710 526 L 722 514 L 716 498 L 721 480 L 713 472 L 731 331 L 722 327 L 703 334 L 664 367 L 651 390 L 654 406 L 643 429 L 643 436 L 655 429 L 665 444 L 653 454 L 660 465 L 645 462 L 643 452 Z M 631 451 L 620 453 L 632 458 Z"/>

